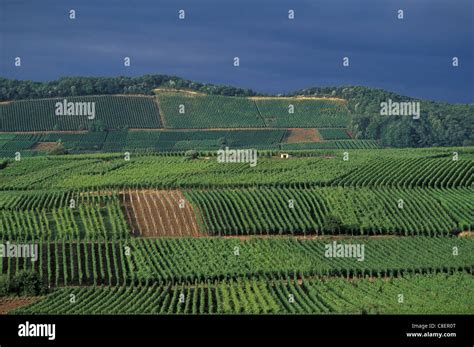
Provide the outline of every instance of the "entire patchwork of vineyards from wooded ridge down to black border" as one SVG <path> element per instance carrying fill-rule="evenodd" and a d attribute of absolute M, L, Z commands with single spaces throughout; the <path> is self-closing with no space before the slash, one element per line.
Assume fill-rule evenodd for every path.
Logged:
<path fill-rule="evenodd" d="M 338 100 L 292 99 L 295 123 L 284 98 L 103 98 L 120 108 L 103 131 L 0 134 L 0 240 L 37 246 L 0 257 L 0 277 L 47 288 L 0 298 L 9 313 L 472 312 L 472 147 L 351 139 Z M 40 101 L 0 107 L 17 103 Z M 256 165 L 219 161 L 226 147 Z"/>

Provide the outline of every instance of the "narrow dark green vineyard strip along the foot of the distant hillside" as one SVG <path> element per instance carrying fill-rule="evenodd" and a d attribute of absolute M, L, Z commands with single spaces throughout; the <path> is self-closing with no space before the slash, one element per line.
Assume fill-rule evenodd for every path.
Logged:
<path fill-rule="evenodd" d="M 309 130 L 316 133 L 316 129 Z M 326 129 L 328 130 L 328 129 Z M 332 129 L 335 130 L 335 129 Z M 291 130 L 293 133 L 295 129 Z M 321 130 L 322 131 L 322 130 Z M 0 156 L 13 157 L 18 151 L 30 155 L 45 154 L 62 143 L 70 153 L 100 152 L 179 152 L 216 151 L 222 147 L 258 150 L 377 149 L 374 140 L 330 140 L 324 142 L 285 142 L 288 130 L 160 130 L 160 131 L 79 131 L 11 134 L 0 138 Z M 43 152 L 43 153 L 41 153 Z"/>

